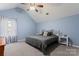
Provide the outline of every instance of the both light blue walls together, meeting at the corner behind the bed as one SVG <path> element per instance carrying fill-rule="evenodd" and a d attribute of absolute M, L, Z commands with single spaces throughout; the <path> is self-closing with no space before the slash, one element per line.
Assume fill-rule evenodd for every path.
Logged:
<path fill-rule="evenodd" d="M 19 39 L 23 39 L 29 34 L 35 34 L 37 27 L 38 32 L 42 29 L 60 30 L 64 34 L 69 35 L 74 44 L 79 45 L 79 15 L 73 15 L 39 24 L 36 24 L 27 13 L 22 12 L 20 9 L 0 11 L 0 16 L 17 19 L 17 34 Z"/>

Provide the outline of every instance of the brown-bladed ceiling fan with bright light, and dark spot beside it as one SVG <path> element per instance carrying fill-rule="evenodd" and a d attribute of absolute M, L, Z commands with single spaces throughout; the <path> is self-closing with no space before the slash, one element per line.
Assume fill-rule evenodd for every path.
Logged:
<path fill-rule="evenodd" d="M 34 10 L 35 12 L 40 12 L 43 10 L 44 5 L 40 3 L 21 3 L 22 5 L 29 5 L 29 8 L 27 8 L 27 11 Z M 49 12 L 46 12 L 45 15 L 49 15 Z"/>

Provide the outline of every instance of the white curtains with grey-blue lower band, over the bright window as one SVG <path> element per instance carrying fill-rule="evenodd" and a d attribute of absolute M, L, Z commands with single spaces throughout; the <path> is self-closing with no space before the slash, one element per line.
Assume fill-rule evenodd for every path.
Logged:
<path fill-rule="evenodd" d="M 5 37 L 7 44 L 17 41 L 16 19 L 0 17 L 0 36 Z"/>

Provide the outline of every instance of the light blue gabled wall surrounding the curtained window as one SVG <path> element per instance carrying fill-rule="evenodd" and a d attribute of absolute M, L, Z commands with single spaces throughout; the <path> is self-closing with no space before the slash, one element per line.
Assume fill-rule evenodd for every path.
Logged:
<path fill-rule="evenodd" d="M 17 20 L 17 35 L 19 39 L 34 34 L 36 31 L 36 23 L 20 8 L 0 11 L 0 16 L 15 18 Z"/>

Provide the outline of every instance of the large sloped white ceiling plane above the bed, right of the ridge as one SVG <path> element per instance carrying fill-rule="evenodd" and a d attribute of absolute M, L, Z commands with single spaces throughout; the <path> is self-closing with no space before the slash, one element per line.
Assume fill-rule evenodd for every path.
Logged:
<path fill-rule="evenodd" d="M 79 14 L 79 4 L 77 3 L 49 3 L 43 5 L 44 8 L 39 8 L 38 13 L 34 10 L 27 11 L 28 4 L 26 4 L 26 6 L 23 6 L 22 8 L 27 11 L 28 14 L 38 23 Z M 45 15 L 45 13 L 47 12 L 49 13 L 49 15 Z"/>

